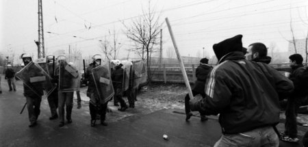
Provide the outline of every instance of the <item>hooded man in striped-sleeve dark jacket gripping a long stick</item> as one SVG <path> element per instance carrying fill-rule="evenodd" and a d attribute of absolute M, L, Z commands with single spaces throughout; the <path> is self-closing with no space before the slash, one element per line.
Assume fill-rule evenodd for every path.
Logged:
<path fill-rule="evenodd" d="M 214 146 L 279 146 L 279 98 L 294 85 L 277 70 L 245 59 L 242 35 L 213 45 L 218 65 L 209 73 L 206 97 L 190 109 L 219 115 L 222 136 Z"/>

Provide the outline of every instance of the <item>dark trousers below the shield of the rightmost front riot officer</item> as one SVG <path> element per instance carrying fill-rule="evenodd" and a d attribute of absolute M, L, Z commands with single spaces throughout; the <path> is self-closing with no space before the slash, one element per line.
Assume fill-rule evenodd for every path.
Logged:
<path fill-rule="evenodd" d="M 95 106 L 92 103 L 89 103 L 91 120 L 96 120 L 97 114 L 99 114 L 101 116 L 101 122 L 104 122 L 106 120 L 107 105 L 108 102 L 101 104 L 99 106 Z"/>

